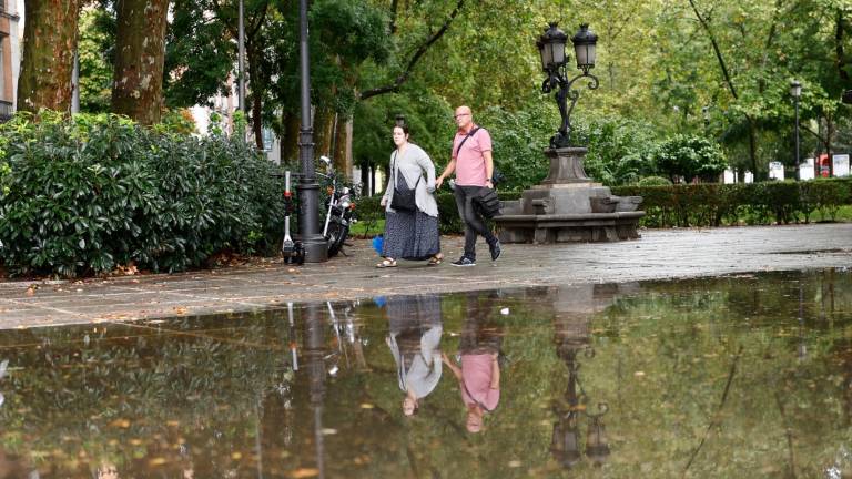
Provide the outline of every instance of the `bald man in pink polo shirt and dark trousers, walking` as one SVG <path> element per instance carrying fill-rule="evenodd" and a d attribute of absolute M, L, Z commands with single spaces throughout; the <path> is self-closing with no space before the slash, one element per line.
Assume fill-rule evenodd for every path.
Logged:
<path fill-rule="evenodd" d="M 494 159 L 491 157 L 491 135 L 488 130 L 474 124 L 469 106 L 456 109 L 458 131 L 453 140 L 453 156 L 444 173 L 435 181 L 437 187 L 444 179 L 456 173 L 456 206 L 458 215 L 465 222 L 465 253 L 454 266 L 476 266 L 476 236 L 483 236 L 488 243 L 491 261 L 500 255 L 500 242 L 497 241 L 476 212 L 473 198 L 479 196 L 484 188 L 494 188 L 491 174 Z"/>

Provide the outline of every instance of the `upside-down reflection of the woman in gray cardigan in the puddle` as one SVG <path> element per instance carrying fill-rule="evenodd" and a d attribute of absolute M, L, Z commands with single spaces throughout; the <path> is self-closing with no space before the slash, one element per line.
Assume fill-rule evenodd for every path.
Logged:
<path fill-rule="evenodd" d="M 396 361 L 399 389 L 405 393 L 403 414 L 412 416 L 419 408 L 419 399 L 432 393 L 440 379 L 440 298 L 393 298 L 387 303 L 387 346 Z"/>

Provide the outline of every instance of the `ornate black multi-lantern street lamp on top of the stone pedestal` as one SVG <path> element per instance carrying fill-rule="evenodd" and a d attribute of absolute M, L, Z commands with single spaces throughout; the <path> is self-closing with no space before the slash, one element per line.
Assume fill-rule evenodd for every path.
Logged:
<path fill-rule="evenodd" d="M 568 55 L 565 52 L 565 45 L 568 37 L 559 30 L 557 22 L 551 22 L 550 27 L 536 42 L 538 52 L 541 57 L 541 70 L 547 73 L 547 79 L 541 83 L 541 92 L 550 93 L 557 86 L 556 104 L 559 106 L 559 115 L 562 118 L 562 124 L 559 131 L 550 139 L 550 147 L 564 149 L 571 146 L 571 112 L 574 111 L 577 99 L 580 94 L 571 90 L 571 85 L 581 79 L 589 79 L 589 90 L 598 88 L 597 77 L 589 73 L 595 68 L 596 45 L 598 35 L 589 30 L 588 23 L 580 24 L 580 30 L 571 38 L 574 43 L 574 53 L 577 59 L 577 68 L 582 71 L 579 75 L 568 80 Z M 568 100 L 571 101 L 568 106 Z"/>

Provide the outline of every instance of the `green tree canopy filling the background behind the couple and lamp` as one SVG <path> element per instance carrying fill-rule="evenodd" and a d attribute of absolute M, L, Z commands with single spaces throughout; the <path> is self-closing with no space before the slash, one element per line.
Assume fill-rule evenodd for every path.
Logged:
<path fill-rule="evenodd" d="M 161 104 L 205 104 L 231 90 L 236 6 L 170 2 Z M 91 111 L 109 108 L 104 91 L 113 85 L 104 72 L 114 68 L 116 11 L 111 0 L 83 8 L 81 90 Z M 260 145 L 261 128 L 271 128 L 282 139 L 282 159 L 295 159 L 298 2 L 246 0 L 245 19 L 255 140 Z M 852 145 L 852 110 L 840 101 L 852 89 L 845 0 L 316 0 L 310 22 L 317 153 L 337 159 L 351 143 L 355 163 L 383 165 L 388 129 L 403 114 L 440 164 L 453 108 L 468 104 L 478 121 L 490 122 L 484 126 L 515 129 L 506 136 L 527 137 L 516 146 L 538 154 L 548 136 L 541 132 L 558 126 L 556 105 L 540 93 L 535 47 L 548 21 L 569 37 L 588 22 L 599 35 L 592 73 L 600 88 L 581 88 L 574 120 L 587 133 L 590 171 L 604 181 L 660 174 L 640 160 L 678 134 L 709 139 L 728 163 L 758 177 L 770 161 L 792 165 L 793 79 L 803 85 L 802 157 Z M 496 111 L 499 118 L 479 114 Z M 516 146 L 505 152 L 516 154 Z M 495 157 L 519 161 L 500 151 Z"/>

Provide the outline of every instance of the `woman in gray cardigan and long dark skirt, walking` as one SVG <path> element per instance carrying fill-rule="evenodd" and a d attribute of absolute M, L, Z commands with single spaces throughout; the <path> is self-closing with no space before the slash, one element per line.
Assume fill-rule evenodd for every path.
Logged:
<path fill-rule="evenodd" d="M 408 126 L 394 126 L 396 150 L 390 155 L 385 207 L 384 258 L 376 267 L 394 267 L 397 259 L 426 261 L 436 266 L 444 259 L 438 235 L 438 202 L 435 201 L 435 165 L 416 144 L 408 143 Z M 414 190 L 416 211 L 396 211 L 394 193 Z"/>

